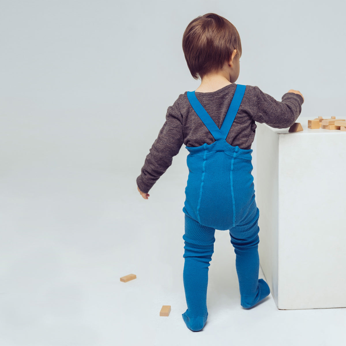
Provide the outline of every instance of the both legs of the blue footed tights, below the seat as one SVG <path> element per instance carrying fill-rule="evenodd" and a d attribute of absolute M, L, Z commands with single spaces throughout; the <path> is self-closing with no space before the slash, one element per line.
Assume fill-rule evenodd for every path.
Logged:
<path fill-rule="evenodd" d="M 240 304 L 246 309 L 253 307 L 270 293 L 267 283 L 258 279 L 258 208 L 253 212 L 256 214 L 250 223 L 229 230 L 231 244 L 236 253 Z M 193 331 L 201 330 L 208 317 L 208 267 L 214 252 L 214 235 L 215 228 L 203 226 L 185 213 L 183 282 L 188 309 L 182 316 L 186 326 Z"/>

